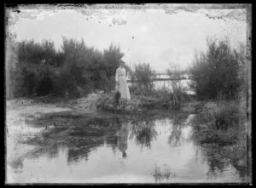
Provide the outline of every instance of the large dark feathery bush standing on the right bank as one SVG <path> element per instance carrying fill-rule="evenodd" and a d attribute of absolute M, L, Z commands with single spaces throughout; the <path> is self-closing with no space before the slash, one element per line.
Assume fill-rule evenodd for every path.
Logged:
<path fill-rule="evenodd" d="M 245 48 L 231 49 L 227 39 L 207 42 L 207 51 L 195 54 L 191 87 L 203 99 L 234 99 L 245 90 Z"/>

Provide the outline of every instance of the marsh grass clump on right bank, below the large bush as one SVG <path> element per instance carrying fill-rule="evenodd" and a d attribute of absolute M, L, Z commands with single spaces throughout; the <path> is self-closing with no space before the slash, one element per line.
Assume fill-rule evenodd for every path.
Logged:
<path fill-rule="evenodd" d="M 218 101 L 213 111 L 205 112 L 192 122 L 195 139 L 201 144 L 232 145 L 245 136 L 246 113 L 238 101 Z"/>

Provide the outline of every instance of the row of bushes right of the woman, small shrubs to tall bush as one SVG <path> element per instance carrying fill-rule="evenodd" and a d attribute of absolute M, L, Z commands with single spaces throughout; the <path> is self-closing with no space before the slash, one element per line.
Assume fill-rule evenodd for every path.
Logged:
<path fill-rule="evenodd" d="M 239 48 L 232 48 L 227 37 L 222 40 L 207 37 L 206 50 L 195 53 L 188 69 L 180 69 L 175 62 L 166 69 L 168 77 L 172 79 L 174 90 L 171 93 L 178 95 L 184 93 L 179 79 L 186 73 L 191 80 L 189 89 L 194 90 L 201 100 L 235 100 L 246 97 L 249 79 L 246 51 L 247 48 L 242 43 Z M 137 79 L 142 82 L 133 85 L 131 90 L 137 94 L 152 93 L 156 75 L 149 64 L 135 65 L 131 80 Z M 160 91 L 157 93 L 160 97 Z M 165 99 L 170 95 L 170 92 L 163 93 Z"/>

